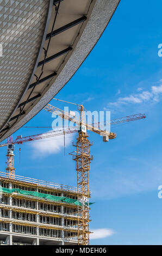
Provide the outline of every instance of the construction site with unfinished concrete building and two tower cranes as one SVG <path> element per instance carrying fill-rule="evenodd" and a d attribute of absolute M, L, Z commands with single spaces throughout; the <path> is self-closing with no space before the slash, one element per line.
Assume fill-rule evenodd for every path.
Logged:
<path fill-rule="evenodd" d="M 89 171 L 93 157 L 90 154 L 92 143 L 88 139 L 87 130 L 102 136 L 103 142 L 116 138 L 116 134 L 98 129 L 98 124 L 91 126 L 85 123 L 84 106 L 75 105 L 80 111 L 79 119 L 71 111 L 68 113 L 49 104 L 43 109 L 78 126 L 28 137 L 17 136 L 15 141 L 10 136 L 6 144 L 0 144 L 0 147 L 7 147 L 6 172 L 0 173 L 1 245 L 89 245 L 92 204 Z M 122 124 L 145 117 L 145 114 L 136 114 L 111 120 L 110 124 Z M 99 125 L 102 127 L 105 124 Z M 77 187 L 15 174 L 15 144 L 60 135 L 64 135 L 65 139 L 69 133 L 78 133 L 77 143 L 73 143 L 76 150 L 70 153 L 76 162 Z"/>

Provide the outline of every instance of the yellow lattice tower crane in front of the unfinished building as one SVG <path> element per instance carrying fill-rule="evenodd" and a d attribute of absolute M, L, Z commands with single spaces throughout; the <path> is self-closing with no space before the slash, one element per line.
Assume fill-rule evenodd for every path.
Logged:
<path fill-rule="evenodd" d="M 54 99 L 58 100 L 58 99 Z M 63 100 L 59 100 L 63 101 Z M 66 103 L 71 103 L 63 101 Z M 103 127 L 105 123 L 94 123 L 92 125 L 86 123 L 84 106 L 76 103 L 71 103 L 78 106 L 80 115 L 79 119 L 75 117 L 73 112 L 65 112 L 57 107 L 47 104 L 43 109 L 49 113 L 54 113 L 62 119 L 72 121 L 79 126 L 77 143 L 73 144 L 76 150 L 70 153 L 73 156 L 73 160 L 76 161 L 77 170 L 77 193 L 78 193 L 78 245 L 89 245 L 89 170 L 92 156 L 90 155 L 90 146 L 92 145 L 88 139 L 89 135 L 87 130 L 97 133 L 103 137 L 104 142 L 108 142 L 109 139 L 116 138 L 116 133 L 108 132 L 106 130 L 98 129 Z M 126 123 L 128 121 L 139 120 L 145 118 L 145 114 L 130 115 L 124 118 L 111 120 L 110 124 L 115 125 L 117 123 Z M 80 221 L 79 217 L 82 217 Z"/>

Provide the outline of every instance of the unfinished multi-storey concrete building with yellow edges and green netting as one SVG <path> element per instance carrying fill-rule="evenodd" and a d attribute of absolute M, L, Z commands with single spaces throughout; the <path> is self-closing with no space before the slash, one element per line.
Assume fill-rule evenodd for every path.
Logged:
<path fill-rule="evenodd" d="M 77 188 L 0 172 L 1 245 L 77 245 Z"/>

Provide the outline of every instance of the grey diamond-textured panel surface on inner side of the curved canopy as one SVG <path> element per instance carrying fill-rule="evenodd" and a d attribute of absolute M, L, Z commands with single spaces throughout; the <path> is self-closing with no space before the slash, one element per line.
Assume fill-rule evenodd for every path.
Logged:
<path fill-rule="evenodd" d="M 0 0 L 0 127 L 14 111 L 34 69 L 48 0 Z"/>

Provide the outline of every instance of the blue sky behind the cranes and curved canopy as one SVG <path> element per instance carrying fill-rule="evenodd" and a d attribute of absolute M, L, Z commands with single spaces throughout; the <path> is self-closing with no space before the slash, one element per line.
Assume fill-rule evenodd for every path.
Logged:
<path fill-rule="evenodd" d="M 160 0 L 156 4 L 151 0 L 121 1 L 94 50 L 57 95 L 84 103 L 90 111 L 110 110 L 111 118 L 138 113 L 147 117 L 112 126 L 117 138 L 108 143 L 90 133 L 94 142 L 90 190 L 91 201 L 96 202 L 91 206 L 91 229 L 97 230 L 92 245 L 162 243 L 162 199 L 158 198 L 158 186 L 162 185 L 161 8 Z M 49 113 L 41 111 L 28 126 L 51 126 L 52 120 Z M 22 128 L 14 138 L 47 131 Z M 66 138 L 65 156 L 59 139 L 48 141 L 49 148 L 55 145 L 50 154 L 41 151 L 45 145 L 38 144 L 39 149 L 32 143 L 23 144 L 21 164 L 16 147 L 16 174 L 76 186 L 75 163 L 68 155 L 74 140 Z M 5 153 L 1 148 L 1 171 L 5 170 Z M 104 237 L 97 238 L 101 234 Z"/>

